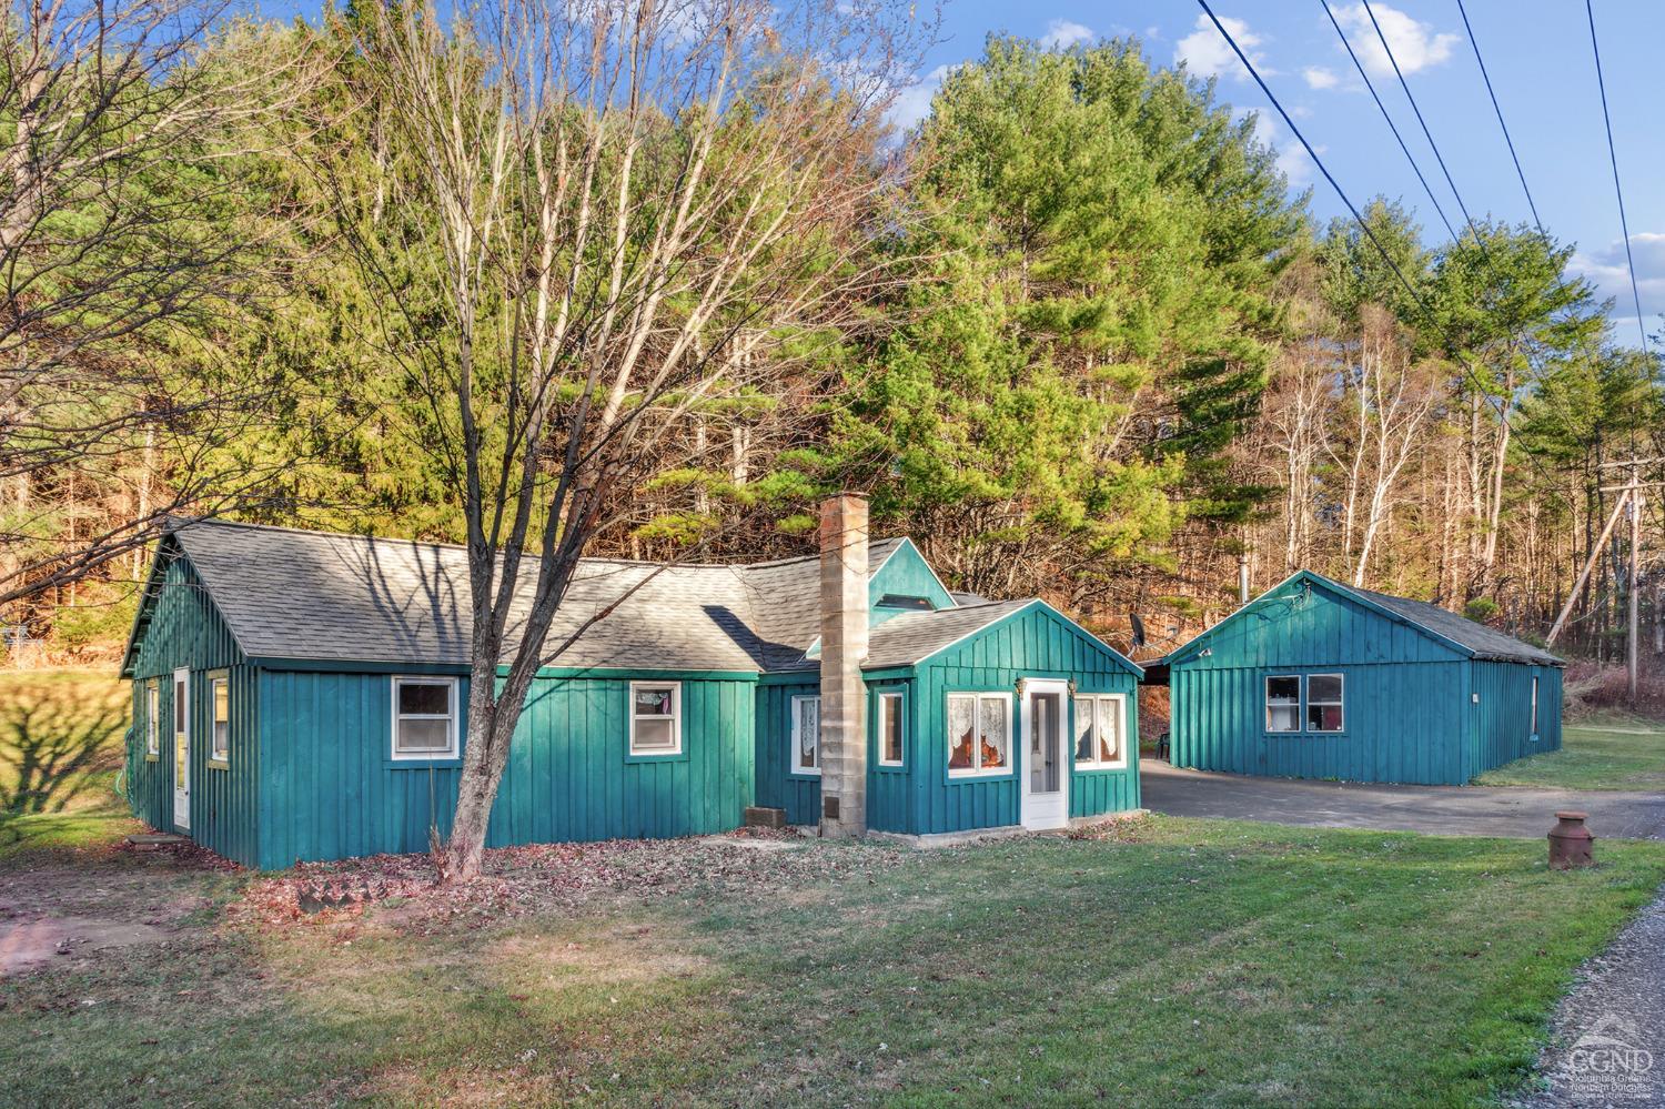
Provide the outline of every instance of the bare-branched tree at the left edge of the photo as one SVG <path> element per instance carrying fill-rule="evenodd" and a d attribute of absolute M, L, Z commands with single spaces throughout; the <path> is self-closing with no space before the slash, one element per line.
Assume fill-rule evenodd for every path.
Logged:
<path fill-rule="evenodd" d="M 173 455 L 168 488 L 148 465 L 158 440 L 213 426 L 233 441 L 268 400 L 235 366 L 183 388 L 173 373 L 206 360 L 215 323 L 261 288 L 265 235 L 241 218 L 258 190 L 240 160 L 318 68 L 273 48 L 280 28 L 226 17 L 216 0 L 35 0 L 0 28 L 0 603 L 260 483 L 201 441 Z M 57 506 L 32 481 L 60 468 L 132 470 L 133 506 L 43 535 Z"/>

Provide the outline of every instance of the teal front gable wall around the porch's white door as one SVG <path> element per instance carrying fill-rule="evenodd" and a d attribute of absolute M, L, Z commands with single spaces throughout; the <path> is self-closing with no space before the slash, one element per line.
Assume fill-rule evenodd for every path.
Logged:
<path fill-rule="evenodd" d="M 1006 828 L 1019 823 L 1017 774 L 1026 773 L 1017 743 L 1017 698 L 1009 723 L 1012 771 L 997 778 L 949 778 L 947 694 L 1014 693 L 1019 678 L 1074 678 L 1079 693 L 1127 696 L 1127 768 L 1076 771 L 1071 768 L 1071 816 L 1101 816 L 1139 808 L 1139 706 L 1136 676 L 1097 639 L 1072 628 L 1044 608 L 1024 609 L 972 636 L 917 668 L 911 703 L 906 831 L 954 833 Z M 1069 734 L 1074 734 L 1074 704 Z M 1074 744 L 1071 744 L 1074 756 Z"/>

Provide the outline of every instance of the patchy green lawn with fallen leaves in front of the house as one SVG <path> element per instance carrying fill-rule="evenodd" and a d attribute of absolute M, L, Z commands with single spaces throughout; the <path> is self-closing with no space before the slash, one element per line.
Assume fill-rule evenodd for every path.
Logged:
<path fill-rule="evenodd" d="M 166 947 L 0 982 L 8 1099 L 1472 1104 L 1527 1081 L 1665 848 L 1562 874 L 1532 843 L 1167 818 L 901 856 L 681 843 L 501 874 L 566 891 L 508 916 L 226 916 L 283 886 L 183 866 L 95 868 L 198 883 Z M 644 881 L 559 873 L 586 866 Z"/>

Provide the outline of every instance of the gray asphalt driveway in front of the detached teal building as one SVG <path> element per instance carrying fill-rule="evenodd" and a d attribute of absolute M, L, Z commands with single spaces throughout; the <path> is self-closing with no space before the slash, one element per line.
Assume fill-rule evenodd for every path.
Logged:
<path fill-rule="evenodd" d="M 1557 809 L 1580 809 L 1590 814 L 1597 839 L 1665 839 L 1665 793 L 1249 778 L 1177 769 L 1151 758 L 1139 761 L 1139 778 L 1144 806 L 1169 816 L 1542 839 Z"/>

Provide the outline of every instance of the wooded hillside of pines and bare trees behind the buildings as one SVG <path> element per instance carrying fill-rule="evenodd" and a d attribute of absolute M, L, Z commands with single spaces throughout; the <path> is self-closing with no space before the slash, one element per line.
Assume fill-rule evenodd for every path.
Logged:
<path fill-rule="evenodd" d="M 907 13 L 882 65 L 779 43 L 624 123 L 606 88 L 549 85 L 571 95 L 503 137 L 491 105 L 528 93 L 478 33 L 423 40 L 430 72 L 356 5 L 173 15 L 128 28 L 120 77 L 92 25 L 3 32 L 0 603 L 58 649 L 125 634 L 170 515 L 468 541 L 456 445 L 551 420 L 573 431 L 528 488 L 559 480 L 599 365 L 631 431 L 581 486 L 586 553 L 803 553 L 814 503 L 864 490 L 952 588 L 1039 593 L 1121 644 L 1137 614 L 1156 649 L 1235 603 L 1239 558 L 1255 589 L 1310 568 L 1542 636 L 1613 510 L 1602 465 L 1665 453 L 1658 361 L 1610 343 L 1572 243 L 1439 241 L 1379 200 L 1412 296 L 1137 40 L 991 40 L 897 135 L 849 73 L 907 60 L 931 33 Z M 480 143 L 418 142 L 443 130 L 423 105 L 465 102 Z M 529 276 L 554 271 L 581 341 Z M 1562 649 L 1622 654 L 1633 554 L 1598 563 Z"/>

